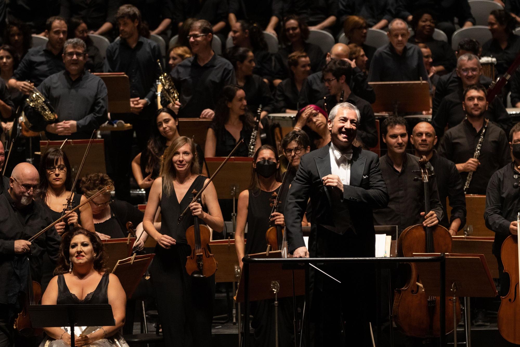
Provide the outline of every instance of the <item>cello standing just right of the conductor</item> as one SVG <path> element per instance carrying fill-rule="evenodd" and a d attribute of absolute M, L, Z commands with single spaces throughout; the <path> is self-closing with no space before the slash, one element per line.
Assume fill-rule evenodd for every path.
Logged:
<path fill-rule="evenodd" d="M 430 212 L 430 187 L 428 178 L 433 172 L 428 172 L 426 164 L 428 160 L 422 156 L 419 160 L 421 167 L 421 181 L 424 189 L 424 211 Z M 414 180 L 419 180 L 415 178 Z M 424 227 L 422 224 L 414 225 L 402 231 L 397 241 L 399 256 L 412 257 L 414 253 L 449 253 L 452 241 L 449 231 L 440 225 Z M 445 305 L 446 321 L 453 319 L 453 304 L 447 297 L 446 302 L 441 303 L 438 296 L 426 295 L 421 283 L 421 276 L 415 264 L 408 264 L 408 280 L 405 287 L 396 289 L 393 305 L 393 316 L 397 327 L 408 336 L 418 338 L 440 337 L 439 314 L 440 305 Z M 457 322 L 460 320 L 460 303 L 456 306 Z M 450 333 L 446 327 L 444 333 Z"/>

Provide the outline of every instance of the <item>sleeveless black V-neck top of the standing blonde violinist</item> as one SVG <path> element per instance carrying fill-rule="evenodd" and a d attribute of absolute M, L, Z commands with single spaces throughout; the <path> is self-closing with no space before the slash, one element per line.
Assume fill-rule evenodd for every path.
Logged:
<path fill-rule="evenodd" d="M 187 190 L 186 194 L 183 196 L 183 200 L 180 201 L 180 204 L 177 200 L 175 188 L 171 195 L 166 195 L 164 192 L 163 182 L 163 192 L 161 199 L 161 233 L 171 236 L 177 241 L 177 243 L 188 243 L 186 241 L 186 229 L 193 225 L 193 216 L 188 210 L 178 225 L 177 220 L 180 214 L 183 213 L 184 209 L 191 203 L 191 200 L 193 199 L 193 194 L 191 192 L 193 189 L 200 191 L 206 179 L 207 177 L 205 176 L 197 176 L 191 183 L 190 188 Z M 200 224 L 204 224 L 202 220 Z"/>

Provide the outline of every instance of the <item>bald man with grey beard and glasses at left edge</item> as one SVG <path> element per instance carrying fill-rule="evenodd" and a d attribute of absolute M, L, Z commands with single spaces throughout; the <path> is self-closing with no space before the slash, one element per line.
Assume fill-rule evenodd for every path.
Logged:
<path fill-rule="evenodd" d="M 32 236 L 53 222 L 42 202 L 33 200 L 38 170 L 29 163 L 15 166 L 9 190 L 0 194 L 0 346 L 14 345 L 12 317 L 20 311 L 19 292 L 27 292 L 29 267 L 33 281 L 41 281 L 43 255 L 55 264 L 61 239 L 55 228 L 34 241 Z M 25 256 L 27 255 L 27 257 Z M 29 258 L 29 265 L 28 259 Z M 29 345 L 17 341 L 17 345 Z"/>

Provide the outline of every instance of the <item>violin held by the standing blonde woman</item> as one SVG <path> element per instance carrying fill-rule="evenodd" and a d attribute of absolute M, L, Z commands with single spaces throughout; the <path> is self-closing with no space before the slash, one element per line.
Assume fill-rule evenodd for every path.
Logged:
<path fill-rule="evenodd" d="M 193 195 L 197 190 L 192 191 Z M 200 197 L 197 199 L 202 204 Z M 186 271 L 192 277 L 210 277 L 217 270 L 217 261 L 210 253 L 210 229 L 199 224 L 199 217 L 193 216 L 193 225 L 186 229 L 186 241 L 191 247 L 191 254 L 187 257 Z"/>

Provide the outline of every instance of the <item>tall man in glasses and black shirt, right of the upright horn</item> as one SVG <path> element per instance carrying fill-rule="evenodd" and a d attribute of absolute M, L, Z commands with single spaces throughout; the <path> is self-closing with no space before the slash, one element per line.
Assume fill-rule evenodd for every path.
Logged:
<path fill-rule="evenodd" d="M 171 72 L 179 92 L 180 104 L 172 105 L 163 98 L 163 106 L 173 109 L 178 117 L 209 118 L 225 85 L 236 84 L 235 69 L 229 61 L 213 52 L 213 28 L 207 20 L 191 24 L 188 40 L 193 57 L 185 59 Z"/>

